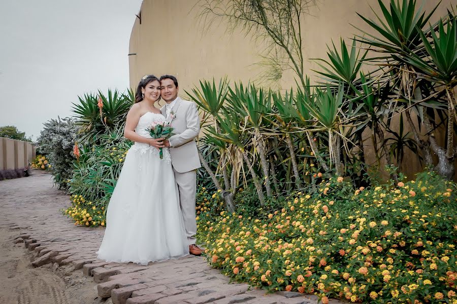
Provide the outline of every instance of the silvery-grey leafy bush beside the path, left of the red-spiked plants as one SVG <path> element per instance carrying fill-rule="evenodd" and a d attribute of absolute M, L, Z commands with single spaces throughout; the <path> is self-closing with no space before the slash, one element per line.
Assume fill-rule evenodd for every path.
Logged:
<path fill-rule="evenodd" d="M 38 137 L 39 149 L 46 153 L 52 164 L 54 183 L 60 188 L 67 188 L 71 178 L 74 159 L 73 145 L 77 138 L 78 127 L 71 118 L 51 119 L 44 123 L 44 129 Z"/>

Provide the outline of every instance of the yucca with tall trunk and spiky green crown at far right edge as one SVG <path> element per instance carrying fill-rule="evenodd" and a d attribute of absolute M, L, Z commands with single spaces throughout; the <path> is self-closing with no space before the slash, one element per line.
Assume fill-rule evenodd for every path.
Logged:
<path fill-rule="evenodd" d="M 431 148 L 438 156 L 436 170 L 451 179 L 454 175 L 454 119 L 455 106 L 457 105 L 454 96 L 454 87 L 457 84 L 457 20 L 451 18 L 445 26 L 440 20 L 438 24 L 438 34 L 433 27 L 430 29 L 432 42 L 427 36 L 420 32 L 420 37 L 427 56 L 418 54 L 408 55 L 408 61 L 416 69 L 418 74 L 423 75 L 438 86 L 444 86 L 447 97 L 447 142 L 446 147 L 441 147 L 435 140 L 435 136 L 430 136 Z M 429 133 L 432 127 L 427 115 L 424 116 L 425 126 Z"/>

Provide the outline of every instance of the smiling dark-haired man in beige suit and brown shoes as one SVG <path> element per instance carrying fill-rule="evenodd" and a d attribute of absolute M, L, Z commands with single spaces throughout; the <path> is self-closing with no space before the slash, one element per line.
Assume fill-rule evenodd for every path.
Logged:
<path fill-rule="evenodd" d="M 160 97 L 167 103 L 160 111 L 174 128 L 175 135 L 164 142 L 170 147 L 175 180 L 178 184 L 189 252 L 201 255 L 202 249 L 195 245 L 197 233 L 195 220 L 195 195 L 197 194 L 197 169 L 201 167 L 195 137 L 200 132 L 200 118 L 195 103 L 183 100 L 178 96 L 178 81 L 172 75 L 160 77 Z"/>

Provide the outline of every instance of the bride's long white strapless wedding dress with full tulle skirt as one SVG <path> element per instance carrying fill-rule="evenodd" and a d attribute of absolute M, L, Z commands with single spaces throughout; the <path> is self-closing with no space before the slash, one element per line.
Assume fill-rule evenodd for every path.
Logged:
<path fill-rule="evenodd" d="M 151 138 L 146 128 L 164 121 L 161 114 L 147 112 L 135 132 Z M 98 258 L 146 265 L 189 254 L 170 153 L 163 151 L 160 160 L 158 149 L 147 143 L 136 142 L 128 150 L 108 205 Z"/>

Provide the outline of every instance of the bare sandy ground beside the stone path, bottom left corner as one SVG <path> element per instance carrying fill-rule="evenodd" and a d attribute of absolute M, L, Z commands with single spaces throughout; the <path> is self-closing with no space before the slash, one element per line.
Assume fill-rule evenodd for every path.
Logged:
<path fill-rule="evenodd" d="M 34 268 L 36 255 L 24 244 L 13 244 L 17 232 L 0 229 L 1 304 L 99 304 L 111 303 L 97 296 L 96 284 L 73 266 L 47 264 Z"/>

